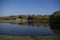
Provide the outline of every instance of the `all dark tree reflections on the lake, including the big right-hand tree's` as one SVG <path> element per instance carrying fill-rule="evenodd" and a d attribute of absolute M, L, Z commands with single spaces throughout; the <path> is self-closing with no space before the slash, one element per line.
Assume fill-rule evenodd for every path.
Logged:
<path fill-rule="evenodd" d="M 60 24 L 59 23 L 41 23 L 41 22 L 25 22 L 25 23 L 18 23 L 17 25 L 26 27 L 26 26 L 31 26 L 31 27 L 50 27 L 51 30 L 55 33 L 55 35 L 60 35 Z"/>

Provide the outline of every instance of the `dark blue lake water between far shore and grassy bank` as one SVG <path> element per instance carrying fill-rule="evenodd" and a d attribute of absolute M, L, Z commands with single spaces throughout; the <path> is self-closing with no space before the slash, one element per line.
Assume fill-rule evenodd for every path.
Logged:
<path fill-rule="evenodd" d="M 0 35 L 11 36 L 53 36 L 55 33 L 46 24 L 10 24 L 0 23 Z"/>

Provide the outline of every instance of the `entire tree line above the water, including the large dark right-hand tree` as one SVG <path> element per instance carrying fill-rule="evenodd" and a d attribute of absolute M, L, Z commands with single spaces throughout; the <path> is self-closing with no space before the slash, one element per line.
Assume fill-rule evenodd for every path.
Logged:
<path fill-rule="evenodd" d="M 54 12 L 52 15 L 11 15 L 6 17 L 0 17 L 0 20 L 16 20 L 22 18 L 26 20 L 33 20 L 34 22 L 49 22 L 49 20 L 59 21 L 60 11 Z M 58 20 L 55 20 L 58 19 Z"/>

